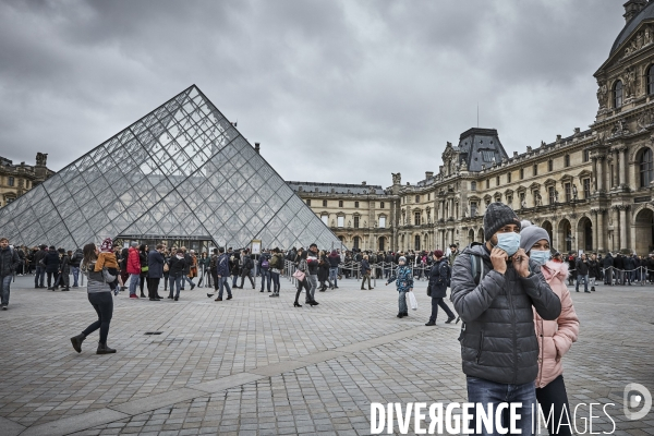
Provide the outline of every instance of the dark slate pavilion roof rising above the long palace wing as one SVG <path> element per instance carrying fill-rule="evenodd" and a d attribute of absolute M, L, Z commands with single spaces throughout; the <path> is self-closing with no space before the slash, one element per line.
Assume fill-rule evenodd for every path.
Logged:
<path fill-rule="evenodd" d="M 459 162 L 465 161 L 468 171 L 475 172 L 509 158 L 495 129 L 473 128 L 461 133 L 459 154 Z"/>

